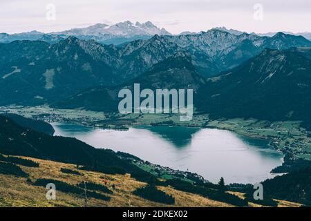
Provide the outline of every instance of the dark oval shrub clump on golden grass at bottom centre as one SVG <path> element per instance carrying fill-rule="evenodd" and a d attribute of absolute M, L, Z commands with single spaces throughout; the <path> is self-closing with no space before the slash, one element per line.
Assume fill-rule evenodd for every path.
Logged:
<path fill-rule="evenodd" d="M 158 190 L 156 186 L 148 185 L 136 189 L 135 191 L 133 191 L 133 194 L 138 195 L 144 199 L 151 200 L 153 202 L 160 202 L 164 204 L 175 204 L 175 199 L 171 195 L 168 195 L 167 193 Z"/>

